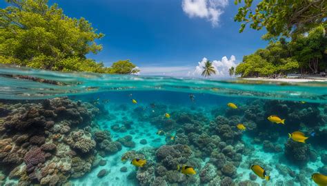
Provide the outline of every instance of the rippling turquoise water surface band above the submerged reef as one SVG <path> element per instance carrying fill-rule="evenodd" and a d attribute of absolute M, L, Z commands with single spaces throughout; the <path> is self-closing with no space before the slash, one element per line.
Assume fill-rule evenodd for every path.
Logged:
<path fill-rule="evenodd" d="M 46 99 L 108 91 L 166 90 L 327 103 L 327 83 L 281 83 L 63 73 L 28 68 L 0 68 L 0 99 Z"/>

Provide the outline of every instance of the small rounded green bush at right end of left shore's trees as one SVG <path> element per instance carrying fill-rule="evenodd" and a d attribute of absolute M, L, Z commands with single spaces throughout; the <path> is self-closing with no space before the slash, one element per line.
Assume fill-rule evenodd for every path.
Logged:
<path fill-rule="evenodd" d="M 110 68 L 110 73 L 112 74 L 136 74 L 139 69 L 130 60 L 117 61 L 112 64 Z"/>

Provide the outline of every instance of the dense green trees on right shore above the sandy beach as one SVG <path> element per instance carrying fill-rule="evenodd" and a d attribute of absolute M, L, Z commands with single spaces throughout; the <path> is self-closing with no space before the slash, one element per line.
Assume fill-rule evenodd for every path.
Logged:
<path fill-rule="evenodd" d="M 311 71 L 317 74 L 327 68 L 327 36 L 323 26 L 301 34 L 288 42 L 285 39 L 270 41 L 265 49 L 244 56 L 235 74 L 241 77 L 271 76 L 290 72 Z"/>

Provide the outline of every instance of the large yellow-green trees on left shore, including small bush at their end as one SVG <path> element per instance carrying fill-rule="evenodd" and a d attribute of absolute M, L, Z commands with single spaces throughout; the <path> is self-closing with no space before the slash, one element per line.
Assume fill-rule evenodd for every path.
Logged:
<path fill-rule="evenodd" d="M 106 68 L 86 56 L 102 50 L 96 41 L 104 36 L 86 19 L 70 18 L 57 4 L 48 6 L 48 0 L 6 1 L 9 6 L 0 10 L 0 63 L 44 70 L 133 72 L 130 61 Z"/>

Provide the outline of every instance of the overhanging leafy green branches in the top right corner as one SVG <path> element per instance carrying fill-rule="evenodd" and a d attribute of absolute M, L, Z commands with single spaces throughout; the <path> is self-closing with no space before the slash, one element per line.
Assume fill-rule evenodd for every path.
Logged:
<path fill-rule="evenodd" d="M 235 4 L 241 0 L 235 0 Z M 254 5 L 255 4 L 255 5 Z M 239 32 L 246 25 L 255 30 L 266 28 L 264 39 L 276 39 L 279 36 L 297 37 L 318 25 L 327 27 L 327 1 L 324 0 L 244 0 L 234 20 L 241 22 Z"/>

